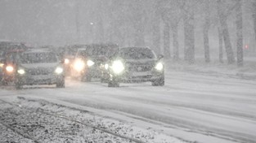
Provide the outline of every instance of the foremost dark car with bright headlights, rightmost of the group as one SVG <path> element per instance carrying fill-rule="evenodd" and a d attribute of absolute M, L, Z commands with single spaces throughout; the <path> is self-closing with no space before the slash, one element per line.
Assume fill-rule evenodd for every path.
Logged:
<path fill-rule="evenodd" d="M 124 47 L 106 63 L 104 78 L 108 87 L 119 87 L 120 82 L 151 82 L 153 86 L 164 85 L 164 56 L 155 55 L 149 47 Z"/>

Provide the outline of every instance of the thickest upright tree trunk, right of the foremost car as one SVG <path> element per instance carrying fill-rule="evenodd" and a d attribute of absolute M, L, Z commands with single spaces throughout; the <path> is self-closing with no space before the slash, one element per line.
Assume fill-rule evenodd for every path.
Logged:
<path fill-rule="evenodd" d="M 185 10 L 184 15 L 184 59 L 188 63 L 195 63 L 195 35 L 194 35 L 194 13 Z"/>

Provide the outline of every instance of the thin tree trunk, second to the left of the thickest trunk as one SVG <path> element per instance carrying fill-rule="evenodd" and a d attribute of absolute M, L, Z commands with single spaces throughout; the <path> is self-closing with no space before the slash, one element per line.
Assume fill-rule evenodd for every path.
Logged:
<path fill-rule="evenodd" d="M 167 23 L 164 23 L 164 58 L 171 58 L 170 26 Z"/>

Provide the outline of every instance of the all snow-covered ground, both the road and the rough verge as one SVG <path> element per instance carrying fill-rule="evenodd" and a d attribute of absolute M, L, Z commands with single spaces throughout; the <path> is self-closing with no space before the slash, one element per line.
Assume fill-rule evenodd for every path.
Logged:
<path fill-rule="evenodd" d="M 19 123 L 19 119 L 25 122 L 24 118 L 29 119 L 29 115 L 22 116 L 19 113 L 34 115 L 36 109 L 42 108 L 51 113 L 78 117 L 77 119 L 92 125 L 101 124 L 101 128 L 145 142 L 256 142 L 256 72 L 251 66 L 238 70 L 233 68 L 235 69 L 222 68 L 221 65 L 218 68 L 208 68 L 208 65 L 169 65 L 165 72 L 164 87 L 152 87 L 150 83 L 143 83 L 108 88 L 98 81 L 84 83 L 70 79 L 66 80 L 65 89 L 55 89 L 54 86 L 27 86 L 23 90 L 14 90 L 12 86 L 1 87 L 0 99 L 19 103 L 26 110 L 31 108 L 30 113 L 17 106 L 8 107 L 7 103 L 1 102 L 1 119 L 5 119 L 4 124 L 13 124 L 11 121 Z M 190 72 L 186 72 L 187 70 Z M 56 105 L 64 106 L 60 108 Z M 75 110 L 89 113 L 79 114 Z M 46 115 L 35 115 L 37 118 L 38 116 L 43 119 L 44 124 L 48 123 Z M 37 118 L 35 119 L 38 120 Z M 52 119 L 52 122 L 56 122 L 56 119 Z M 54 125 L 61 126 L 63 122 L 61 119 L 60 124 L 57 122 Z M 110 126 L 113 123 L 119 126 Z M 51 128 L 50 125 L 47 127 Z M 0 127 L 2 138 L 6 136 L 7 128 L 2 124 Z M 35 136 L 35 132 L 42 130 L 29 132 L 29 135 L 34 135 L 34 138 L 48 136 L 43 133 Z M 90 139 L 81 132 L 91 130 L 79 128 L 75 133 L 79 137 L 71 136 L 73 142 Z M 106 142 L 102 139 L 105 135 L 96 135 L 101 139 L 100 142 Z M 54 142 L 63 142 L 60 137 L 68 136 L 70 134 L 62 132 L 52 139 L 56 139 Z M 124 139 L 112 136 L 108 134 L 107 141 L 125 142 Z M 8 137 L 20 138 L 11 131 Z M 22 142 L 27 142 L 23 140 Z"/>

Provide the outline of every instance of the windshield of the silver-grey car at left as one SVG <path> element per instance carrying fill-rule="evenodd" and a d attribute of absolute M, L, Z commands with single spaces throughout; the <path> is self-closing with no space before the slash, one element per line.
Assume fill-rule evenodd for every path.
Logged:
<path fill-rule="evenodd" d="M 57 58 L 53 53 L 25 53 L 20 57 L 21 63 L 56 63 Z"/>

